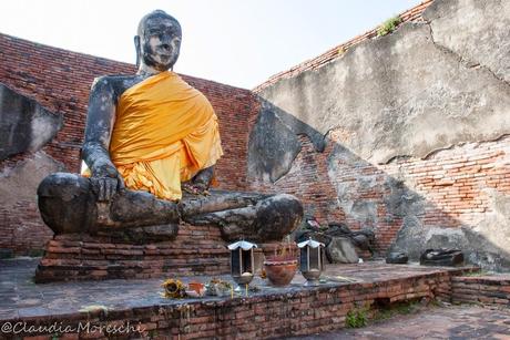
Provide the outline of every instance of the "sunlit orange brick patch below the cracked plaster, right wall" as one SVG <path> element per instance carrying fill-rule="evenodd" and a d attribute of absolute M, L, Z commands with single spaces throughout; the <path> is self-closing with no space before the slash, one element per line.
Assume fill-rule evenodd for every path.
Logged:
<path fill-rule="evenodd" d="M 426 159 L 399 159 L 381 167 L 405 178 L 425 197 L 426 226 L 476 226 L 494 213 L 491 193 L 510 194 L 510 137 L 465 143 Z"/>

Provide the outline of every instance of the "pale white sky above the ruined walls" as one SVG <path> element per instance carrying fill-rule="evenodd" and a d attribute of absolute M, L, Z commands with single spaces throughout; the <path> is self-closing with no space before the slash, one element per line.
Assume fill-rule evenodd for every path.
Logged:
<path fill-rule="evenodd" d="M 422 0 L 11 0 L 0 32 L 134 63 L 140 19 L 162 9 L 183 29 L 174 71 L 253 89 Z"/>

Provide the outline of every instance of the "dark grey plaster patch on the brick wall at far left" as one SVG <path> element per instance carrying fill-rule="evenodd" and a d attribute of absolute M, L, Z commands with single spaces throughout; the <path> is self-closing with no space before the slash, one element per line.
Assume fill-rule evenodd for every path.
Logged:
<path fill-rule="evenodd" d="M 62 127 L 62 117 L 0 83 L 0 161 L 34 152 Z"/>

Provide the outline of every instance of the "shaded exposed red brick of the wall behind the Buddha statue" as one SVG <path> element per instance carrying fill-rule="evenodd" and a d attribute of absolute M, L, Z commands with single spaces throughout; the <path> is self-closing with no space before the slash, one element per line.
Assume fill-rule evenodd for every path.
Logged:
<path fill-rule="evenodd" d="M 0 34 L 0 82 L 63 116 L 63 127 L 43 152 L 78 172 L 90 85 L 104 74 L 132 74 L 129 63 L 57 49 Z M 177 63 L 178 69 L 178 63 Z M 253 115 L 251 91 L 183 75 L 211 101 L 220 119 L 225 156 L 217 165 L 217 179 L 225 189 L 246 186 L 247 121 Z M 20 154 L 0 162 L 0 171 L 12 168 L 31 155 Z M 35 196 L 35 188 L 33 188 Z M 33 202 L 0 207 L 0 249 L 23 253 L 40 248 L 51 237 Z"/>

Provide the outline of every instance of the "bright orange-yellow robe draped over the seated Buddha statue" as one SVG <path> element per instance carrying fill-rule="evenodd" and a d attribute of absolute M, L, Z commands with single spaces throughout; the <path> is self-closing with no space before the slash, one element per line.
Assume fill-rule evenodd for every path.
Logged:
<path fill-rule="evenodd" d="M 177 74 L 153 75 L 119 99 L 110 156 L 128 188 L 181 199 L 181 183 L 222 155 L 211 103 Z"/>

